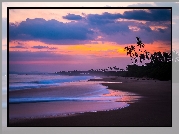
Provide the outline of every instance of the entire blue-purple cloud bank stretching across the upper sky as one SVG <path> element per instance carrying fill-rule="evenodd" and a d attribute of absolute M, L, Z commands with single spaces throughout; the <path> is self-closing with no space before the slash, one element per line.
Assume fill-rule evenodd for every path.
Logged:
<path fill-rule="evenodd" d="M 124 14 L 104 12 L 103 14 L 85 14 L 84 16 L 83 19 L 80 15 L 75 14 L 63 16 L 69 20 L 82 19 L 82 21 L 68 23 L 54 19 L 46 21 L 42 18 L 26 19 L 18 26 L 12 23 L 9 26 L 9 39 L 10 41 L 38 40 L 46 44 L 57 45 L 87 44 L 91 41 L 128 44 L 134 43 L 132 39 L 135 40 L 136 36 L 145 37 L 147 43 L 152 43 L 155 40 L 171 40 L 171 24 L 168 23 L 171 19 L 171 11 L 168 9 L 131 10 L 125 11 Z M 129 19 L 129 21 L 119 21 L 118 19 Z M 143 24 L 135 20 L 145 20 L 147 23 Z M 130 26 L 137 27 L 139 31 L 132 31 Z M 167 28 L 152 30 L 150 26 Z M 97 39 L 98 36 L 103 38 Z M 45 47 L 34 46 L 34 48 L 44 49 Z"/>

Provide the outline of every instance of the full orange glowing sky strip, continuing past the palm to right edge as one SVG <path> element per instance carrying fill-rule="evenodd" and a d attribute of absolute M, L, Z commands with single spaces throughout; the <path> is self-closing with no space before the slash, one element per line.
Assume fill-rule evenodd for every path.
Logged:
<path fill-rule="evenodd" d="M 139 47 L 136 44 L 120 45 L 113 42 L 96 42 L 97 44 L 84 45 L 48 45 L 40 41 L 13 41 L 10 42 L 10 51 L 28 51 L 28 52 L 50 52 L 56 55 L 71 55 L 71 56 L 96 56 L 96 57 L 128 57 L 124 47 L 134 45 L 136 52 Z M 21 44 L 23 48 L 11 48 Z M 154 52 L 171 52 L 171 44 L 167 42 L 154 42 L 152 44 L 145 44 L 141 50 L 147 50 L 150 53 Z M 20 46 L 20 45 L 19 45 Z M 33 46 L 43 47 L 42 49 L 33 48 Z M 55 48 L 55 49 L 53 49 Z"/>

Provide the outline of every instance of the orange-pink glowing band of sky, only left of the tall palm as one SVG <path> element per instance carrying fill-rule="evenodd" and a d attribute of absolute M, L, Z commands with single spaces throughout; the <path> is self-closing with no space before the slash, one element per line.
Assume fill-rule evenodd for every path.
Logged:
<path fill-rule="evenodd" d="M 95 56 L 108 56 L 108 57 L 125 57 L 123 46 L 114 44 L 111 42 L 96 42 L 97 44 L 84 44 L 84 45 L 48 45 L 40 41 L 13 41 L 10 42 L 10 51 L 51 51 L 55 54 L 67 54 L 67 55 L 95 55 Z M 14 48 L 21 44 L 23 48 Z M 33 48 L 33 46 L 40 46 L 43 49 Z M 13 48 L 12 48 L 13 47 Z M 56 48 L 56 49 L 50 49 Z"/>

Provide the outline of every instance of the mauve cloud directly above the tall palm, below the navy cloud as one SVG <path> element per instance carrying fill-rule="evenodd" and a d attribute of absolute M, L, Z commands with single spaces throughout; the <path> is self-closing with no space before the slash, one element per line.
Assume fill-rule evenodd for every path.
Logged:
<path fill-rule="evenodd" d="M 135 25 L 134 25 L 135 26 Z M 136 24 L 137 27 L 142 27 L 139 31 L 129 31 L 129 32 L 118 32 L 115 34 L 110 34 L 106 36 L 104 33 L 102 36 L 102 41 L 116 42 L 118 44 L 135 44 L 136 36 L 140 37 L 143 43 L 153 43 L 154 41 L 171 41 L 171 28 L 166 28 L 162 30 L 151 30 L 150 27 L 145 27 L 143 25 Z M 171 45 L 171 44 L 170 44 Z"/>

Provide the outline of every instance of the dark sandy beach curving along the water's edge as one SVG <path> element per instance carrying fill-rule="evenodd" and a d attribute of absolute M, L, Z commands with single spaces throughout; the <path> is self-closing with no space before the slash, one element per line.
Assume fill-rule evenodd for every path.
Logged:
<path fill-rule="evenodd" d="M 171 81 L 123 77 L 107 77 L 102 80 L 120 81 L 122 83 L 102 84 L 109 89 L 136 93 L 142 98 L 123 109 L 67 117 L 24 119 L 20 122 L 9 122 L 9 126 L 172 126 Z"/>

